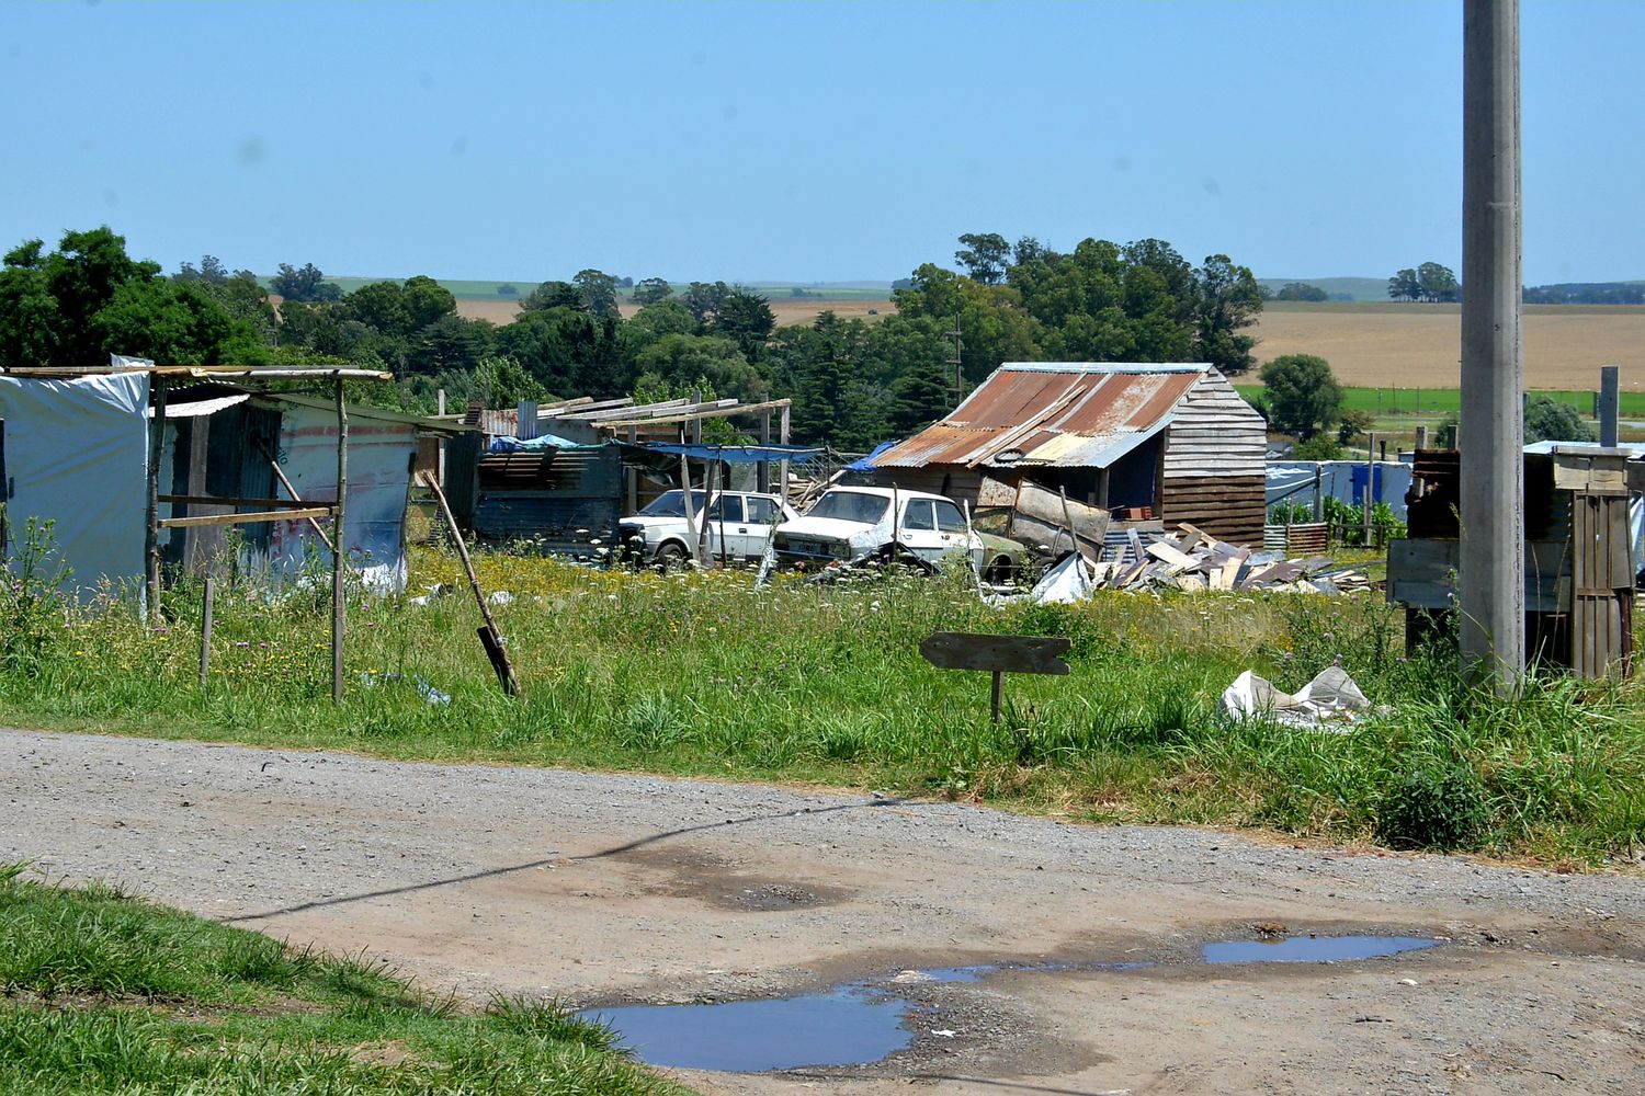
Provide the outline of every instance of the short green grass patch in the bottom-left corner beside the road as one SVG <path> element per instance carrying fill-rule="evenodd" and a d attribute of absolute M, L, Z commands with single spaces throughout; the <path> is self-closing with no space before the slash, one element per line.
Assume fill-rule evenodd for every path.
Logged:
<path fill-rule="evenodd" d="M 551 1002 L 461 1009 L 365 958 L 0 866 L 0 1093 L 686 1093 L 612 1042 Z"/>

